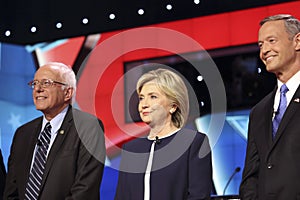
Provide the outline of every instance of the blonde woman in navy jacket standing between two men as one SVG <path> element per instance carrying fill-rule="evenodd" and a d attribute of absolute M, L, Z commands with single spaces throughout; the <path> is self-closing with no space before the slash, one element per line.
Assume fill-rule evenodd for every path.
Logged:
<path fill-rule="evenodd" d="M 179 75 L 157 69 L 137 82 L 146 138 L 123 145 L 115 200 L 210 199 L 211 153 L 206 135 L 184 129 L 187 88 Z"/>

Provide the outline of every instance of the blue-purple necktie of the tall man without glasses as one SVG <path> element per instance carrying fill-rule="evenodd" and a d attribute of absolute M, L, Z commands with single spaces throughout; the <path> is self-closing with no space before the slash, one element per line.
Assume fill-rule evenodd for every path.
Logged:
<path fill-rule="evenodd" d="M 280 87 L 280 101 L 279 101 L 279 106 L 278 106 L 277 112 L 275 114 L 275 117 L 273 119 L 273 138 L 276 135 L 278 126 L 279 126 L 280 121 L 281 121 L 281 119 L 283 117 L 283 114 L 284 114 L 284 112 L 286 110 L 287 101 L 286 101 L 285 94 L 287 93 L 287 91 L 289 91 L 289 89 L 286 87 L 285 84 L 283 84 Z"/>

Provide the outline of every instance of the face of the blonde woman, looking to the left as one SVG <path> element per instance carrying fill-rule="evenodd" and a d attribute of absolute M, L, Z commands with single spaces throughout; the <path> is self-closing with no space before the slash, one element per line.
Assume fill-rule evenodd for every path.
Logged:
<path fill-rule="evenodd" d="M 139 94 L 138 109 L 141 119 L 150 127 L 171 123 L 172 103 L 155 82 L 143 85 Z"/>

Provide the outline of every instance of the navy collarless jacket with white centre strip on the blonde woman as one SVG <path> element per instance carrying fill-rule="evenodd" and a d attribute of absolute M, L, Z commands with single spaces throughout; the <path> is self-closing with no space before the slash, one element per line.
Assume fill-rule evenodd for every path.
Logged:
<path fill-rule="evenodd" d="M 138 138 L 123 145 L 115 200 L 144 199 L 144 175 L 153 141 Z M 155 145 L 151 200 L 210 199 L 212 163 L 208 138 L 182 129 Z"/>

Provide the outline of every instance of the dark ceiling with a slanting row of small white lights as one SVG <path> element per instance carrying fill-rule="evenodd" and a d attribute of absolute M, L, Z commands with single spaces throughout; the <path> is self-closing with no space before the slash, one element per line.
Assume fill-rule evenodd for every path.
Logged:
<path fill-rule="evenodd" d="M 0 42 L 34 44 L 178 19 L 289 2 L 291 0 L 2 0 Z M 166 5 L 172 9 L 167 10 Z M 138 15 L 138 9 L 144 9 Z M 114 13 L 116 18 L 109 19 Z M 89 19 L 82 24 L 82 19 Z M 55 27 L 57 22 L 62 28 Z M 37 27 L 32 33 L 30 28 Z M 10 36 L 5 36 L 6 31 Z"/>

